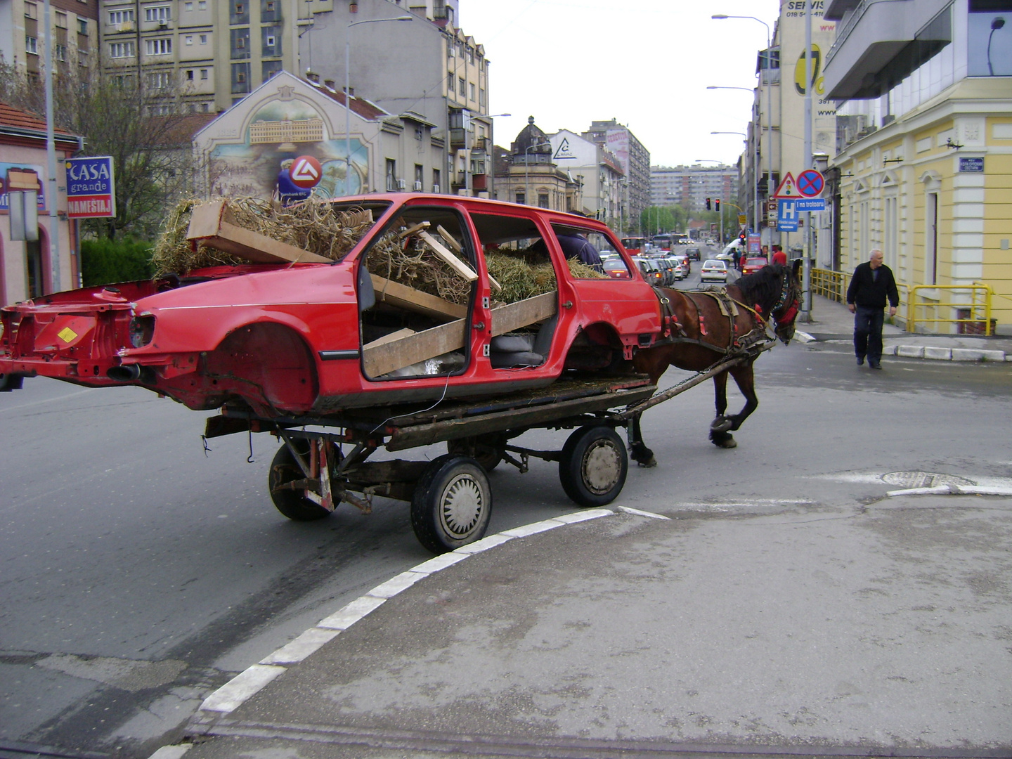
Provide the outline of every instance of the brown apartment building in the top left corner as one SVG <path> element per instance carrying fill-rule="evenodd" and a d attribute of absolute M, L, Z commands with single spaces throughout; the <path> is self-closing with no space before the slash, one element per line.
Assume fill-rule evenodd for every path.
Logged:
<path fill-rule="evenodd" d="M 0 55 L 29 78 L 43 73 L 46 26 L 41 0 L 0 0 Z M 51 0 L 50 33 L 57 73 L 78 75 L 95 66 L 98 0 Z"/>

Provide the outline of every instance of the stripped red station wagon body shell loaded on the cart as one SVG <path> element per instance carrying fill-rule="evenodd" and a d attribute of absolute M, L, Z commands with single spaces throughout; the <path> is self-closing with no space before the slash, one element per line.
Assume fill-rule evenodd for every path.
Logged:
<path fill-rule="evenodd" d="M 639 268 L 623 256 L 626 279 L 576 279 L 553 225 L 606 236 L 594 220 L 479 198 L 397 193 L 341 202 L 389 202 L 372 229 L 340 261 L 246 264 L 189 272 L 172 279 L 90 287 L 5 307 L 0 374 L 44 375 L 85 386 L 140 385 L 191 409 L 241 399 L 259 416 L 328 414 L 344 408 L 431 398 L 492 395 L 558 378 L 574 340 L 611 345 L 630 357 L 661 331 L 660 306 Z M 466 366 L 449 375 L 373 378 L 363 370 L 359 329 L 359 265 L 363 251 L 399 210 L 449 208 L 459 215 L 473 249 L 482 241 L 470 214 L 533 222 L 557 273 L 558 325 L 542 364 L 494 368 L 490 288 L 483 255 L 468 310 Z M 132 330 L 148 342 L 134 347 Z"/>

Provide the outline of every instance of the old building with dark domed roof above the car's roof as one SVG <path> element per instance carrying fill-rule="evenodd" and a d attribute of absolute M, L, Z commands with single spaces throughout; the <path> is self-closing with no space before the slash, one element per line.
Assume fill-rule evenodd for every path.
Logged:
<path fill-rule="evenodd" d="M 527 118 L 509 151 L 497 147 L 495 156 L 496 199 L 553 210 L 581 209 L 579 184 L 554 162 L 549 136 L 533 116 Z"/>

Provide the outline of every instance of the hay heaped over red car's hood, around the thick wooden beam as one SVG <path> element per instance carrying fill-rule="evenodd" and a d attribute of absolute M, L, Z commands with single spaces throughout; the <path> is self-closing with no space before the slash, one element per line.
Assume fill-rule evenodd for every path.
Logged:
<path fill-rule="evenodd" d="M 194 249 L 186 239 L 193 208 L 201 202 L 182 200 L 169 212 L 151 256 L 156 277 L 182 275 L 204 266 L 249 263 L 206 245 Z M 372 227 L 370 212 L 341 212 L 332 203 L 313 198 L 284 207 L 259 197 L 233 197 L 226 200 L 226 206 L 231 221 L 239 227 L 333 260 L 351 250 Z"/>

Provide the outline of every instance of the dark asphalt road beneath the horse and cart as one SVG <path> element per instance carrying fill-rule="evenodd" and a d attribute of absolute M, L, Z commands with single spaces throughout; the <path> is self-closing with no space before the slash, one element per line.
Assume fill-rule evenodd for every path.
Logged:
<path fill-rule="evenodd" d="M 883 365 L 777 347 L 756 365 L 761 405 L 735 450 L 706 441 L 708 385 L 654 409 L 644 434 L 660 466 L 631 471 L 616 505 L 851 507 L 880 499 L 887 473 L 1012 478 L 1012 364 Z M 0 755 L 147 756 L 234 673 L 428 558 L 397 502 L 283 519 L 265 492 L 273 439 L 254 436 L 253 463 L 244 436 L 205 453 L 203 416 L 136 389 L 32 380 L 0 395 Z M 551 463 L 500 468 L 492 484 L 491 532 L 575 510 Z M 995 571 L 987 592 L 1012 601 L 1012 569 Z"/>

